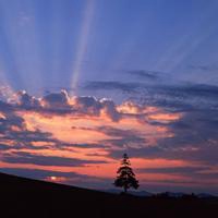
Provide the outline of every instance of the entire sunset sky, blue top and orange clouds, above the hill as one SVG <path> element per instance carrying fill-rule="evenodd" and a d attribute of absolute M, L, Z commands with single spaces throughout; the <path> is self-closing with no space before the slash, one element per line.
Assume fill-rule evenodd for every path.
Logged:
<path fill-rule="evenodd" d="M 218 0 L 0 0 L 0 171 L 218 194 Z"/>

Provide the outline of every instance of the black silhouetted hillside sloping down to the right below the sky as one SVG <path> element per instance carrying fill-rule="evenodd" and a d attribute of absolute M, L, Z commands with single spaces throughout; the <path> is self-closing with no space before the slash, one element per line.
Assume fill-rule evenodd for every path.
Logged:
<path fill-rule="evenodd" d="M 0 217 L 214 217 L 218 201 L 116 195 L 0 173 Z"/>

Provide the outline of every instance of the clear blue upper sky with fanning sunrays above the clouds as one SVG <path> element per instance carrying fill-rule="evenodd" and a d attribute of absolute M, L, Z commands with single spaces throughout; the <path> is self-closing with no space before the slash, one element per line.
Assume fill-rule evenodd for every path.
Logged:
<path fill-rule="evenodd" d="M 217 84 L 217 10 L 216 0 L 0 0 L 0 75 L 33 94 L 138 70 Z"/>

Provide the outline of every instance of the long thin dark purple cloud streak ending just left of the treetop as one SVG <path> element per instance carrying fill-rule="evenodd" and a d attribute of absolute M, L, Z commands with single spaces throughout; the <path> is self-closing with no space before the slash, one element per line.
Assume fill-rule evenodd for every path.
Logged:
<path fill-rule="evenodd" d="M 88 164 L 104 164 L 102 160 L 83 160 L 75 158 L 41 156 L 25 152 L 14 152 L 12 154 L 3 154 L 2 160 L 10 164 L 33 164 L 38 166 L 59 166 L 59 167 L 77 167 Z"/>

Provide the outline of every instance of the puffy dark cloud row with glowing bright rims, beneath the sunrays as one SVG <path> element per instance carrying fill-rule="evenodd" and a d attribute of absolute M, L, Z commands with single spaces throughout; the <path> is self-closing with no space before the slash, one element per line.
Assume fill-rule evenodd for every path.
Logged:
<path fill-rule="evenodd" d="M 26 92 L 17 92 L 15 104 L 0 101 L 0 111 L 12 113 L 16 111 L 34 111 L 44 116 L 94 116 L 98 117 L 105 112 L 111 120 L 119 121 L 120 113 L 116 109 L 116 104 L 110 99 L 97 99 L 92 96 L 73 97 L 70 99 L 66 90 L 60 93 L 49 93 L 43 98 L 35 98 Z M 70 102 L 71 101 L 71 102 Z"/>

